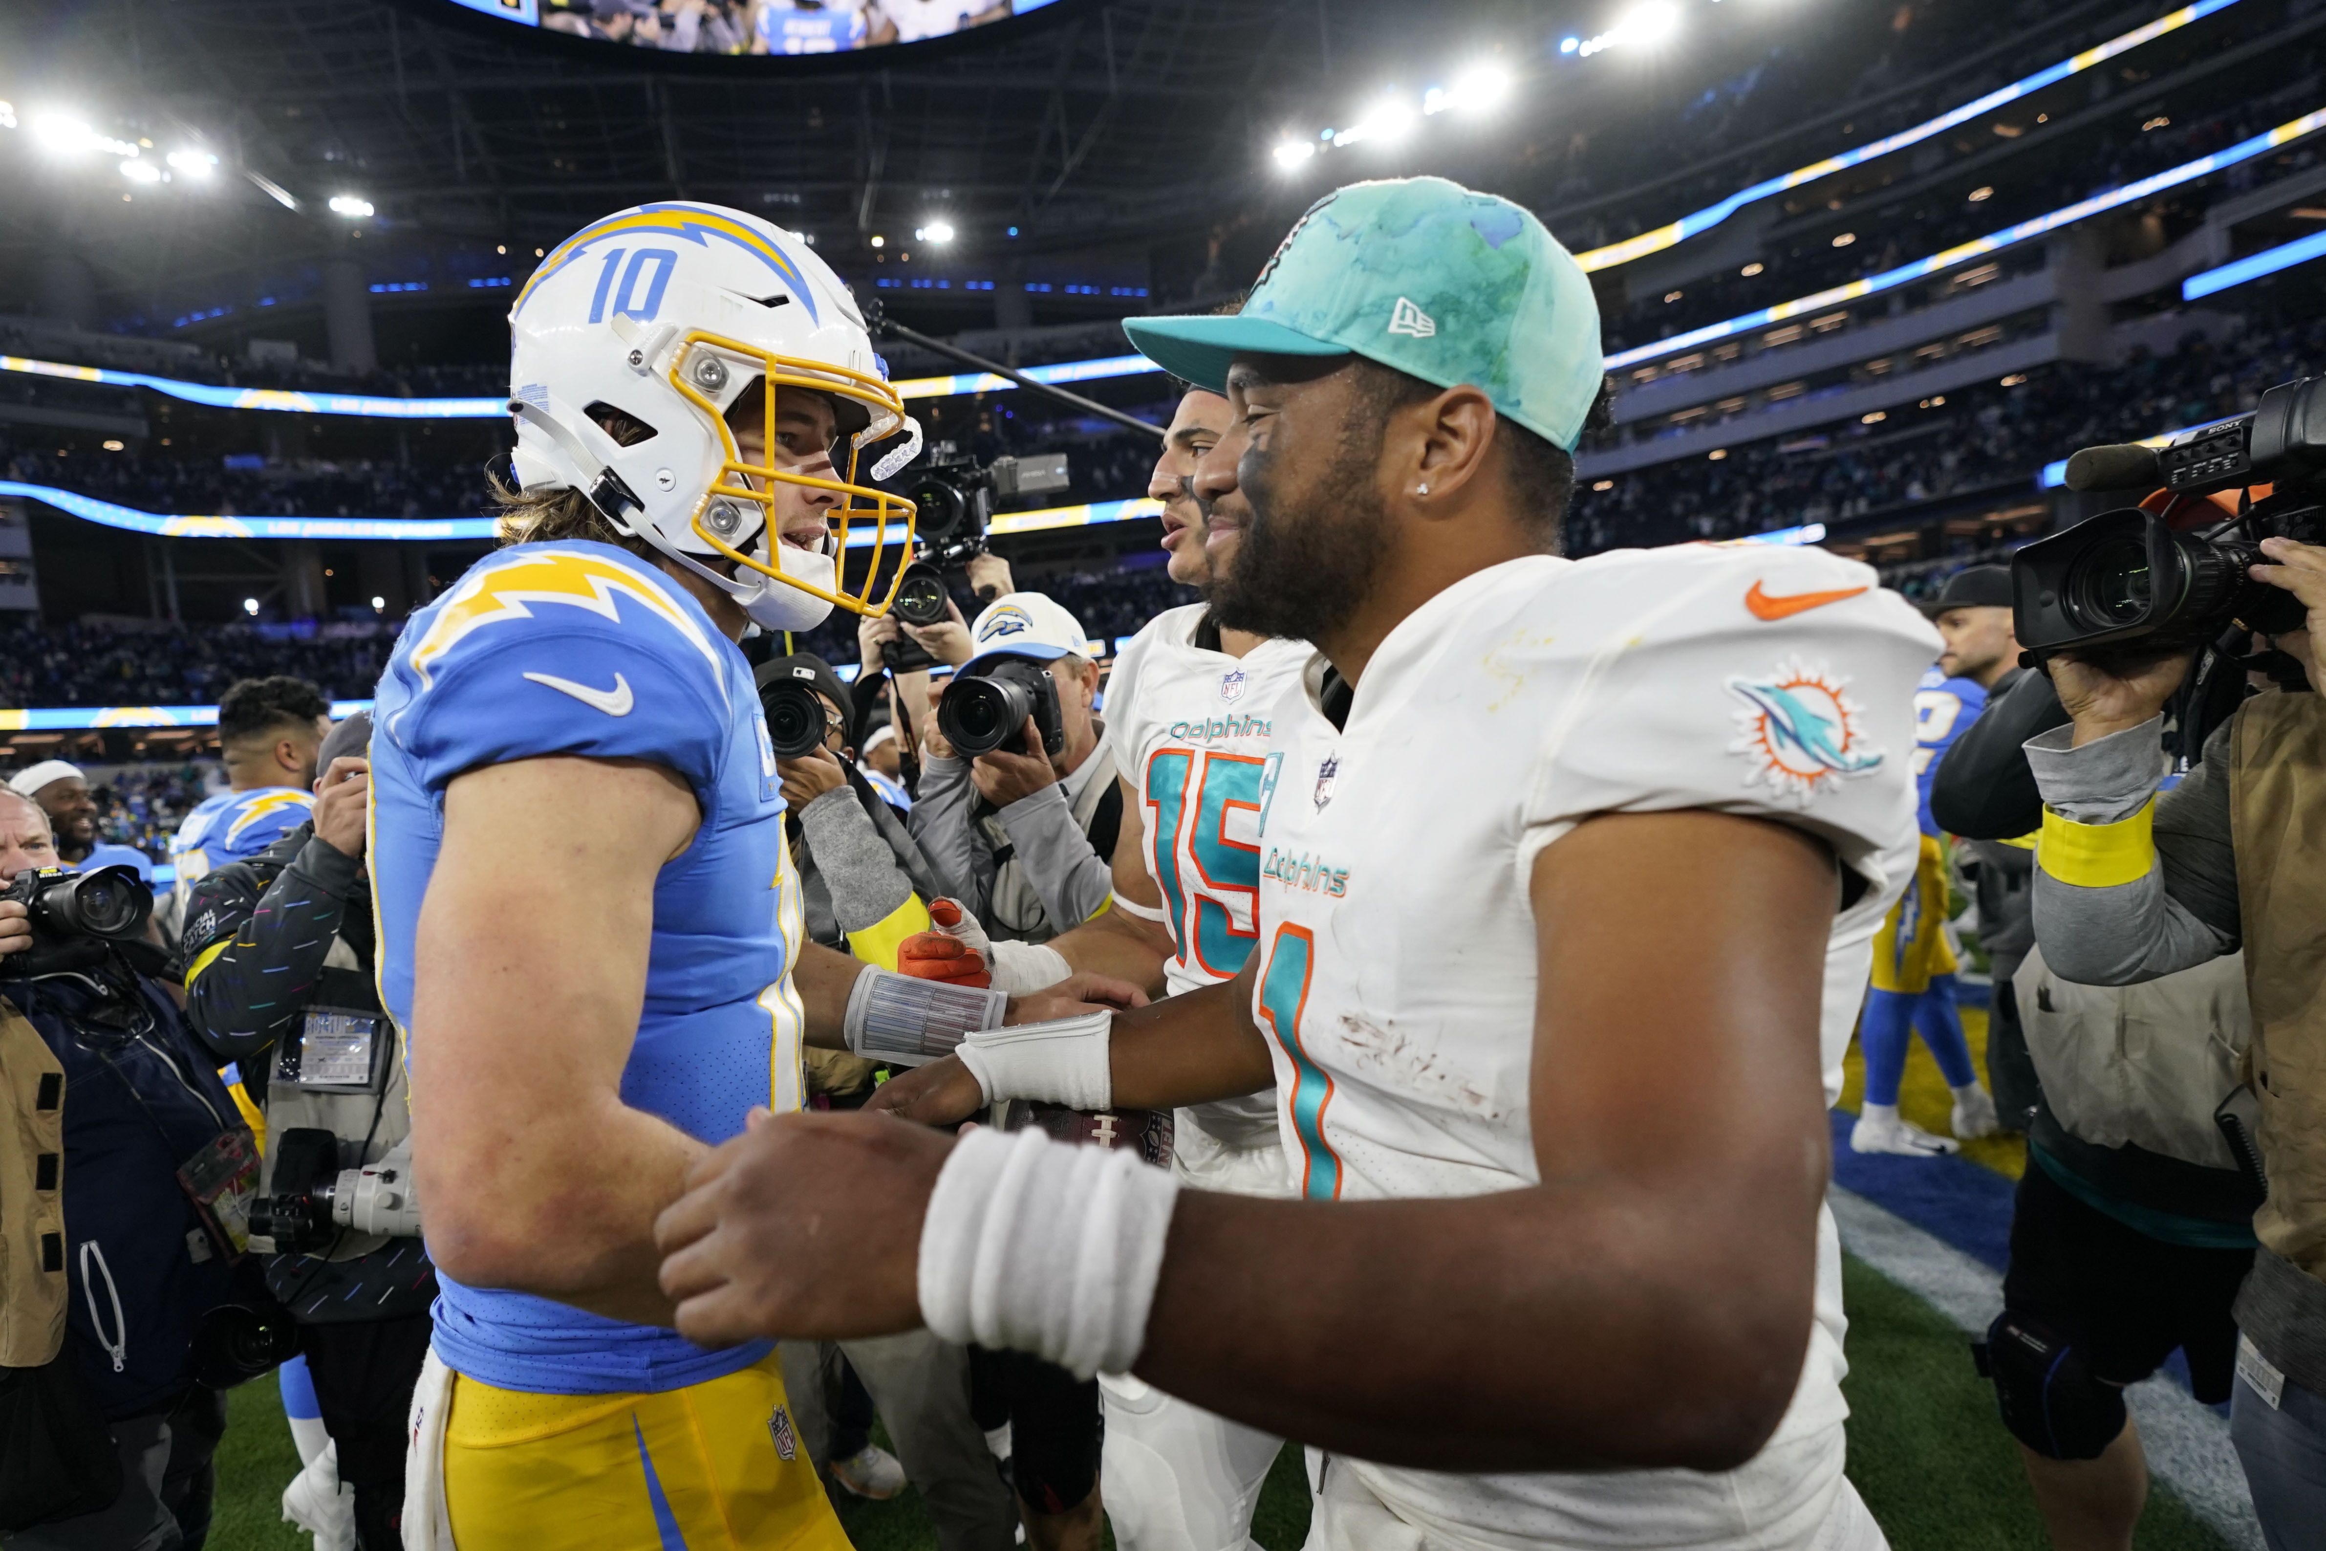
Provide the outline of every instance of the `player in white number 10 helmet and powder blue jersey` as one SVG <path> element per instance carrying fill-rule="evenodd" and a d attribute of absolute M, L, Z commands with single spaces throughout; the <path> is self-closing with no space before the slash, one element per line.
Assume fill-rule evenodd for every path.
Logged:
<path fill-rule="evenodd" d="M 858 453 L 902 435 L 886 477 L 919 433 L 840 279 L 733 209 L 586 226 L 509 326 L 507 546 L 414 614 L 374 707 L 381 998 L 442 1281 L 405 1539 L 842 1551 L 772 1346 L 672 1330 L 654 1216 L 800 1107 L 802 1039 L 1003 1016 L 802 942 L 735 646 L 884 607 L 837 556 L 896 542 L 912 509 Z"/>

